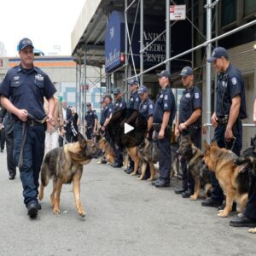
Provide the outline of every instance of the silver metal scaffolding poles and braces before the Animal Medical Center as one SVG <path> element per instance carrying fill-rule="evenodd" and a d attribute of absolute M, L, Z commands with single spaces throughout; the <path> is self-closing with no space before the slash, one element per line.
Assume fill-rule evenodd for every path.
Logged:
<path fill-rule="evenodd" d="M 155 68 L 157 67 L 161 67 L 163 65 L 166 65 L 166 69 L 171 71 L 171 65 L 172 65 L 172 61 L 174 60 L 178 60 L 181 57 L 183 57 L 183 55 L 187 55 L 189 53 L 191 53 L 191 66 L 194 67 L 195 64 L 195 50 L 197 49 L 202 49 L 205 48 L 207 55 L 205 57 L 209 58 L 211 56 L 212 53 L 212 43 L 216 43 L 216 45 L 218 44 L 218 40 L 222 39 L 222 38 L 226 38 L 229 37 L 231 34 L 234 34 L 236 32 L 239 32 L 249 26 L 255 26 L 256 25 L 256 20 L 252 20 L 242 26 L 236 27 L 235 29 L 231 30 L 230 32 L 225 32 L 224 34 L 221 34 L 218 36 L 218 34 L 215 33 L 215 38 L 212 38 L 212 24 L 213 24 L 213 20 L 215 19 L 215 27 L 218 27 L 218 9 L 216 9 L 215 12 L 215 16 L 212 20 L 212 9 L 214 9 L 215 7 L 218 6 L 218 2 L 219 0 L 216 0 L 214 2 L 212 2 L 212 0 L 207 0 L 207 4 L 204 5 L 204 9 L 207 10 L 207 38 L 205 38 L 205 36 L 203 35 L 203 33 L 201 32 L 201 30 L 199 29 L 199 27 L 195 26 L 195 22 L 194 22 L 194 0 L 191 1 L 186 1 L 186 3 L 191 3 L 191 7 L 189 9 L 187 9 L 187 13 L 186 13 L 186 20 L 189 21 L 189 23 L 191 24 L 191 38 L 192 38 L 192 42 L 191 42 L 191 48 L 188 50 L 183 51 L 180 54 L 171 56 L 171 38 L 172 38 L 172 34 L 171 34 L 171 27 L 173 25 L 176 24 L 176 22 L 178 21 L 170 21 L 170 5 L 172 4 L 176 4 L 175 1 L 172 0 L 166 0 L 166 29 L 160 33 L 160 35 L 157 38 L 154 38 L 154 40 L 150 43 L 150 44 L 154 44 L 154 42 L 163 34 L 166 35 L 166 60 L 162 61 L 156 65 L 154 65 L 153 67 L 149 67 L 147 69 L 144 69 L 144 65 L 143 65 L 143 54 L 146 51 L 146 49 L 150 46 L 150 44 L 148 44 L 146 47 L 144 47 L 143 45 L 143 29 L 144 29 L 144 0 L 132 0 L 129 1 L 131 3 L 128 3 L 128 0 L 125 0 L 125 6 L 124 6 L 124 14 L 125 14 L 125 65 L 123 65 L 122 67 L 119 67 L 118 70 L 122 69 L 125 72 L 125 91 L 128 91 L 128 84 L 127 81 L 129 79 L 133 79 L 136 78 L 139 80 L 140 84 L 143 84 L 143 76 L 146 73 L 149 73 L 150 71 L 153 71 Z M 152 0 L 150 2 L 151 4 L 156 3 L 156 0 Z M 137 4 L 137 9 L 136 9 L 136 14 L 135 14 L 135 21 L 134 21 L 134 26 L 135 23 L 137 21 L 137 15 L 140 15 L 140 50 L 139 50 L 139 55 L 140 55 L 140 66 L 139 66 L 139 73 L 137 73 L 137 68 L 135 66 L 135 61 L 133 58 L 133 50 L 131 47 L 131 40 L 132 40 L 132 36 L 133 36 L 133 32 L 134 32 L 134 26 L 132 28 L 131 33 L 129 32 L 129 28 L 128 28 L 128 12 L 130 11 L 130 9 Z M 191 20 L 189 19 L 189 11 L 191 12 Z M 108 22 L 108 17 L 107 17 L 107 22 Z M 217 32 L 218 30 L 215 29 L 215 31 Z M 199 44 L 199 45 L 194 45 L 194 37 L 195 37 L 195 32 L 197 32 L 201 38 L 203 38 L 204 43 Z M 88 42 L 88 40 L 86 40 L 86 42 Z M 82 56 L 84 56 L 84 72 L 82 72 Z M 131 57 L 131 65 L 129 65 L 129 59 Z M 187 61 L 187 60 L 185 60 Z M 79 106 L 84 106 L 83 104 L 86 104 L 86 90 L 85 90 L 85 95 L 82 95 L 81 97 L 81 84 L 82 81 L 84 80 L 86 82 L 87 78 L 87 74 L 86 74 L 86 63 L 87 63 L 87 57 L 86 57 L 86 45 L 83 49 L 83 53 L 81 53 L 81 55 L 79 56 L 79 61 L 77 62 L 79 63 L 77 65 L 77 92 L 78 95 L 80 96 L 80 98 L 78 98 L 79 101 Z M 132 70 L 133 69 L 133 73 L 134 75 L 131 75 Z M 203 65 L 201 65 L 201 69 L 203 68 Z M 114 72 L 117 72 L 117 70 L 115 70 Z M 113 73 L 114 73 L 113 72 Z M 84 76 L 84 79 L 82 79 L 82 76 Z M 99 81 L 102 81 L 102 78 L 106 78 L 106 84 L 107 84 L 107 91 L 110 91 L 110 87 L 111 87 L 111 80 L 112 80 L 112 74 L 111 73 L 103 73 L 102 74 L 102 67 L 101 67 L 101 74 L 99 77 Z M 216 75 L 215 75 L 215 79 L 216 79 Z M 211 89 L 211 83 L 212 83 L 212 68 L 211 68 L 211 64 L 207 63 L 207 109 L 206 109 L 206 124 L 210 124 L 211 123 L 211 115 L 212 115 L 212 98 L 211 98 L 211 93 L 212 93 L 212 89 Z M 92 84 L 92 86 L 95 86 L 95 84 Z M 100 91 L 102 93 L 102 89 L 100 88 Z M 127 99 L 127 95 L 126 95 L 126 99 Z M 84 113 L 85 110 L 80 108 L 80 111 L 82 110 L 82 113 Z M 84 116 L 84 115 L 83 115 Z M 211 138 L 211 131 L 207 130 L 207 141 L 210 142 L 210 138 Z"/>

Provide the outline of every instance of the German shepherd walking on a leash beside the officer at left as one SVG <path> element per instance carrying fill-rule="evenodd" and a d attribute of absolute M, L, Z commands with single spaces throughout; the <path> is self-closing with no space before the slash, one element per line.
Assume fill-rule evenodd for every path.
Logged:
<path fill-rule="evenodd" d="M 80 200 L 80 179 L 83 173 L 83 165 L 86 165 L 94 157 L 101 153 L 96 147 L 96 143 L 85 140 L 79 133 L 78 142 L 68 143 L 61 148 L 54 148 L 44 157 L 41 166 L 41 185 L 39 200 L 44 197 L 44 187 L 49 183 L 49 178 L 53 179 L 53 190 L 50 195 L 51 205 L 55 214 L 60 213 L 60 196 L 63 183 L 73 182 L 73 194 L 75 205 L 79 215 L 84 217 L 84 212 Z"/>

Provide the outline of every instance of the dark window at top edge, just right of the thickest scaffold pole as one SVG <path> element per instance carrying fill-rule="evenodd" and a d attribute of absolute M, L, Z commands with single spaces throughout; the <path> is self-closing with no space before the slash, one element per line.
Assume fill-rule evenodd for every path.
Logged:
<path fill-rule="evenodd" d="M 221 1 L 221 26 L 236 20 L 236 0 Z"/>

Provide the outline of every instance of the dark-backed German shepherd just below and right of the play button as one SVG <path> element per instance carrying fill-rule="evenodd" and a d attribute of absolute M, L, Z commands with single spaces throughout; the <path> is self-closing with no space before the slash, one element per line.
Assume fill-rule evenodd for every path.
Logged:
<path fill-rule="evenodd" d="M 137 179 L 143 179 L 147 165 L 149 165 L 150 177 L 148 178 L 148 181 L 153 181 L 155 177 L 154 164 L 159 160 L 159 149 L 157 148 L 156 143 L 154 143 L 154 141 L 149 141 L 148 138 L 145 138 L 143 143 L 137 147 L 137 151 L 138 156 L 143 163 L 141 169 L 142 174 Z"/>

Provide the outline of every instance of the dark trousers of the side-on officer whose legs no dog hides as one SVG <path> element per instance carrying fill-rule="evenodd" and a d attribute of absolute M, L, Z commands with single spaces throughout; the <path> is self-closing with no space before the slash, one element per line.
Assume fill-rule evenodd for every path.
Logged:
<path fill-rule="evenodd" d="M 158 137 L 158 132 L 157 137 Z M 157 147 L 160 150 L 159 172 L 160 179 L 170 181 L 172 153 L 171 153 L 171 129 L 166 129 L 164 138 L 157 140 Z"/>

